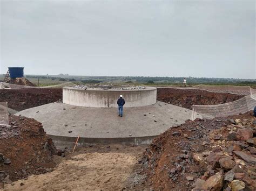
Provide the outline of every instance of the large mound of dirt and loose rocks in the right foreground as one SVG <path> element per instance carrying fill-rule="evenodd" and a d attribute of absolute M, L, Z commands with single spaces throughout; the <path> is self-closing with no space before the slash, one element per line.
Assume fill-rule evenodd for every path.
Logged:
<path fill-rule="evenodd" d="M 147 181 L 137 188 L 255 190 L 255 123 L 247 113 L 170 128 L 144 152 Z"/>

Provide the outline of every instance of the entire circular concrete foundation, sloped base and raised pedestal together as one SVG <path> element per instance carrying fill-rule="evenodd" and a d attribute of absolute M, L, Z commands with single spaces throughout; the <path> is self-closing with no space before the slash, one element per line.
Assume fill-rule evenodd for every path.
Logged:
<path fill-rule="evenodd" d="M 124 115 L 117 113 L 119 95 L 125 99 Z M 63 103 L 50 103 L 18 112 L 43 124 L 57 146 L 133 143 L 150 144 L 172 125 L 190 119 L 192 111 L 157 102 L 157 89 L 63 88 Z M 200 117 L 198 115 L 198 117 Z"/>

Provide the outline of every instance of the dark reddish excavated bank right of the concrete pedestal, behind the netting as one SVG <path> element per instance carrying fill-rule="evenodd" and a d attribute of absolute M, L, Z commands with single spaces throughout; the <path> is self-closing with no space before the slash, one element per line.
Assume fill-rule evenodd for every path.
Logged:
<path fill-rule="evenodd" d="M 198 89 L 157 88 L 157 100 L 191 109 L 192 105 L 215 105 L 233 102 L 243 95 L 212 93 Z"/>

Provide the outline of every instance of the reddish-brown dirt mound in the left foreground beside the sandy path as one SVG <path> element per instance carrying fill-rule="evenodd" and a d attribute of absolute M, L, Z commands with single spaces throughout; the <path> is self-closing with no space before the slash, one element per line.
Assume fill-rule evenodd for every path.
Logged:
<path fill-rule="evenodd" d="M 57 151 L 42 124 L 17 116 L 10 116 L 10 124 L 0 126 L 0 182 L 51 171 Z"/>

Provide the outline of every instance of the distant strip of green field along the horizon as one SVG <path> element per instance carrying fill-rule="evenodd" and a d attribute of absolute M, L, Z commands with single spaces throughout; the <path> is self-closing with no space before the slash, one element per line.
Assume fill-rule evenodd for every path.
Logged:
<path fill-rule="evenodd" d="M 26 79 L 40 86 L 52 86 L 55 84 L 72 82 L 76 84 L 131 84 L 133 86 L 183 86 L 183 77 L 145 77 L 145 76 L 67 76 L 67 75 L 25 75 Z M 0 81 L 4 75 L 0 75 Z M 256 80 L 252 79 L 218 79 L 187 77 L 187 86 L 207 84 L 213 86 L 251 86 L 256 87 Z"/>

